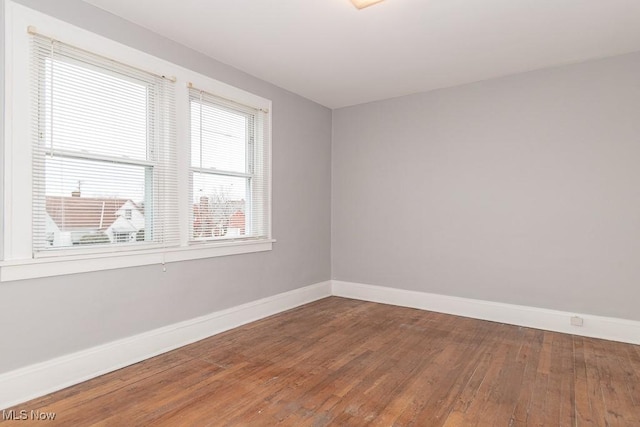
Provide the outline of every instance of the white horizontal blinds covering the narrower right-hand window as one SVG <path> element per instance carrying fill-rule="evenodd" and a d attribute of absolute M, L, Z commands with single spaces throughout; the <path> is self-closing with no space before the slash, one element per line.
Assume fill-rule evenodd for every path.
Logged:
<path fill-rule="evenodd" d="M 269 238 L 268 112 L 190 88 L 191 240 Z"/>

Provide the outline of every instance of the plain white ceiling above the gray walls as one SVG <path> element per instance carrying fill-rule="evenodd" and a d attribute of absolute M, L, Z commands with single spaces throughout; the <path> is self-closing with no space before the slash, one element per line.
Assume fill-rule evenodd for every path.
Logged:
<path fill-rule="evenodd" d="M 330 108 L 640 50 L 640 0 L 85 0 Z"/>

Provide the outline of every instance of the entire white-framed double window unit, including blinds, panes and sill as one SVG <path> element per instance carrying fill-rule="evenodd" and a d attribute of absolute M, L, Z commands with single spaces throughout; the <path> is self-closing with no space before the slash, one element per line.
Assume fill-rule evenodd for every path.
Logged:
<path fill-rule="evenodd" d="M 5 5 L 0 281 L 271 249 L 269 100 Z"/>

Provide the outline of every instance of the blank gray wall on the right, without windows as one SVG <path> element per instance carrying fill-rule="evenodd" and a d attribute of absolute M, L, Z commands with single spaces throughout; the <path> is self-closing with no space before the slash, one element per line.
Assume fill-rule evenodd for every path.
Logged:
<path fill-rule="evenodd" d="M 335 279 L 640 320 L 640 53 L 333 112 Z"/>

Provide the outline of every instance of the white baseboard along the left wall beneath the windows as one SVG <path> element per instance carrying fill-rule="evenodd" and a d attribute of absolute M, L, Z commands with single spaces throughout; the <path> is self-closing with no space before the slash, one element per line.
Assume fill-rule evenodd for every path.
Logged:
<path fill-rule="evenodd" d="M 331 295 L 321 282 L 0 375 L 0 410 Z"/>

